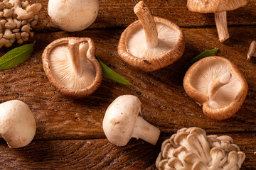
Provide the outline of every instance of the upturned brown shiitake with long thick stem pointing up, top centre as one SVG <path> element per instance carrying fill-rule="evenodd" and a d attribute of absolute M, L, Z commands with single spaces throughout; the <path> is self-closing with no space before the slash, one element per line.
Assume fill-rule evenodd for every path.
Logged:
<path fill-rule="evenodd" d="M 134 7 L 139 20 L 121 35 L 118 54 L 124 62 L 146 72 L 174 63 L 183 55 L 185 38 L 175 23 L 153 17 L 144 1 Z"/>

